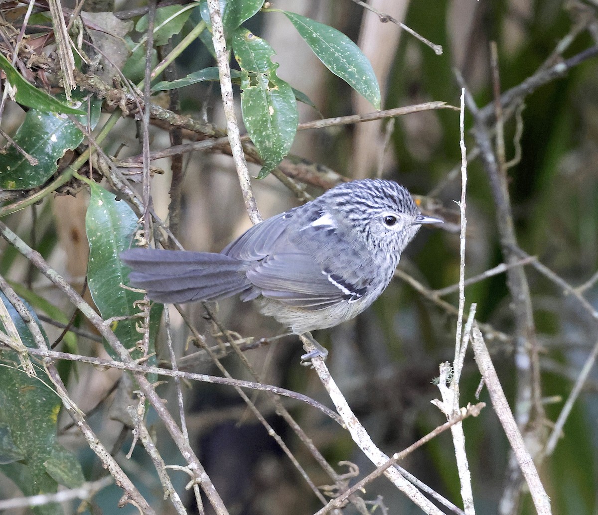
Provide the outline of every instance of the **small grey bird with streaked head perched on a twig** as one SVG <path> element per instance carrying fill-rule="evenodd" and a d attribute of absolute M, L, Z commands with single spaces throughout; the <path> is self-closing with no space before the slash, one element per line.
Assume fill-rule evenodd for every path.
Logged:
<path fill-rule="evenodd" d="M 240 294 L 300 334 L 336 326 L 372 304 L 423 223 L 442 220 L 420 214 L 403 186 L 354 180 L 254 225 L 221 253 L 130 249 L 121 259 L 132 268 L 132 286 L 154 301 Z"/>

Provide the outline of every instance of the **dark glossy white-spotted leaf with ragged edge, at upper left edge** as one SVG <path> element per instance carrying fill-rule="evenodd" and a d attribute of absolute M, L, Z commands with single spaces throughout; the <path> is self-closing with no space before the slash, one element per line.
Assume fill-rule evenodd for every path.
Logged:
<path fill-rule="evenodd" d="M 83 99 L 84 93 L 74 91 L 72 97 Z M 101 108 L 100 100 L 91 99 L 91 128 L 96 126 Z M 87 125 L 87 114 L 75 119 Z M 56 161 L 67 150 L 77 148 L 84 134 L 66 115 L 30 109 L 13 139 L 38 163 L 29 163 L 20 151 L 8 145 L 6 152 L 0 154 L 0 189 L 30 189 L 42 185 L 57 170 Z"/>

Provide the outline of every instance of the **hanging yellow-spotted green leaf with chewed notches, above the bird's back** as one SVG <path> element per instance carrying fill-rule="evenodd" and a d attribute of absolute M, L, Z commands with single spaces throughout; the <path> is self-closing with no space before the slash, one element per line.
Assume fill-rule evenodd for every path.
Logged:
<path fill-rule="evenodd" d="M 276 75 L 274 50 L 241 27 L 233 35 L 235 59 L 241 67 L 241 108 L 247 132 L 263 161 L 258 177 L 266 177 L 289 153 L 299 115 L 289 84 Z"/>

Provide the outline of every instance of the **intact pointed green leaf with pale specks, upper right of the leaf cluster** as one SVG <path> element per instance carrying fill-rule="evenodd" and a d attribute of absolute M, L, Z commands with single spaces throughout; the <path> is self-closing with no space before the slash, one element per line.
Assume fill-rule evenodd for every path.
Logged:
<path fill-rule="evenodd" d="M 315 22 L 300 14 L 283 13 L 297 32 L 312 48 L 313 53 L 334 75 L 347 82 L 365 97 L 376 109 L 380 109 L 380 87 L 374 70 L 359 47 L 346 35 L 323 23 Z"/>

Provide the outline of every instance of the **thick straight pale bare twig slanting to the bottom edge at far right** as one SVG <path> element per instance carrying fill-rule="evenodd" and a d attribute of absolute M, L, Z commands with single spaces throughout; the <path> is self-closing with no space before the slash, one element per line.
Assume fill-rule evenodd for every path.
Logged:
<path fill-rule="evenodd" d="M 521 432 L 515 423 L 515 418 L 509 407 L 507 397 L 502 390 L 498 375 L 496 375 L 496 370 L 492 364 L 492 359 L 486 348 L 484 337 L 477 324 L 474 324 L 472 328 L 472 347 L 474 349 L 475 361 L 478 364 L 484 382 L 486 382 L 492 406 L 501 421 L 505 434 L 511 444 L 511 449 L 523 473 L 523 477 L 527 482 L 527 486 L 529 486 L 536 511 L 538 511 L 538 515 L 550 515 L 550 498 L 548 498 L 544 486 L 542 486 L 538 470 L 536 470 L 532 456 L 526 449 Z"/>

